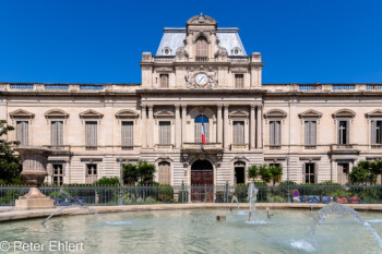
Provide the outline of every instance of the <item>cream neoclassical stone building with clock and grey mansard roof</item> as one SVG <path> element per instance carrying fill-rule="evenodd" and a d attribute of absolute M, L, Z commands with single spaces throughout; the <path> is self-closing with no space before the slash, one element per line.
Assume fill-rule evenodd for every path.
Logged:
<path fill-rule="evenodd" d="M 1 83 L 8 138 L 53 149 L 56 183 L 119 176 L 120 157 L 172 185 L 247 182 L 253 164 L 346 183 L 357 161 L 382 157 L 382 84 L 262 84 L 261 55 L 208 16 L 165 28 L 140 64 L 142 84 Z"/>

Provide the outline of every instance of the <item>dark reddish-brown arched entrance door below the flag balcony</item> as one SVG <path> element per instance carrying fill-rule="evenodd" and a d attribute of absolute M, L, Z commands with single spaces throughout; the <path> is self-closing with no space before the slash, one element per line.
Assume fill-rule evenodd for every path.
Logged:
<path fill-rule="evenodd" d="M 214 170 L 208 160 L 196 160 L 191 167 L 191 201 L 214 201 Z"/>

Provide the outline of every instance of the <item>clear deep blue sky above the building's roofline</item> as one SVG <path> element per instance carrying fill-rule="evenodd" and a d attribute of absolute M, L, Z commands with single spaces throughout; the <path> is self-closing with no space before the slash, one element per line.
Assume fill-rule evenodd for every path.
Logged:
<path fill-rule="evenodd" d="M 0 1 L 0 82 L 140 83 L 163 27 L 203 12 L 261 52 L 263 83 L 382 83 L 382 1 Z"/>

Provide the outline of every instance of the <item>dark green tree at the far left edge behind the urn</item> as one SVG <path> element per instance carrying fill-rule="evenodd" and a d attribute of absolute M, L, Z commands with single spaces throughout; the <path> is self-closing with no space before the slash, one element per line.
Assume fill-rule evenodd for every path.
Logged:
<path fill-rule="evenodd" d="M 14 128 L 7 124 L 7 121 L 0 120 L 0 182 L 16 183 L 21 182 L 21 162 L 20 158 L 14 156 L 12 145 L 19 145 L 19 142 L 8 142 L 7 136 L 9 131 Z"/>

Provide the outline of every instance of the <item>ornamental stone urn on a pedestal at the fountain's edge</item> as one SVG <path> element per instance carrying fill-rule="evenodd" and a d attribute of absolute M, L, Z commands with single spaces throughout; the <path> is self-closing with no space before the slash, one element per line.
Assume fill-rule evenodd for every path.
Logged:
<path fill-rule="evenodd" d="M 47 162 L 51 150 L 37 146 L 19 146 L 14 150 L 19 152 L 23 165 L 21 176 L 31 186 L 27 194 L 16 199 L 15 209 L 55 208 L 55 201 L 38 189 L 48 176 Z"/>

